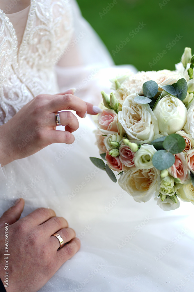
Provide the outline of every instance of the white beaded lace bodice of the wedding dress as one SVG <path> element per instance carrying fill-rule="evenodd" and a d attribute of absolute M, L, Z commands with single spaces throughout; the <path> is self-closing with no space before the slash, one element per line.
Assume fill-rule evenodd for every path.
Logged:
<path fill-rule="evenodd" d="M 36 95 L 57 93 L 54 66 L 73 33 L 69 1 L 31 0 L 22 43 L 0 10 L 0 125 Z"/>

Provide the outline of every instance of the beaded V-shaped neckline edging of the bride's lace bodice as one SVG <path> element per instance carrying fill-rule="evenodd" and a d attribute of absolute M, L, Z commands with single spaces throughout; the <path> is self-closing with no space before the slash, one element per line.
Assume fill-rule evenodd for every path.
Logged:
<path fill-rule="evenodd" d="M 12 29 L 12 35 L 16 41 L 16 44 L 17 44 L 17 55 L 19 56 L 19 54 L 23 52 L 22 48 L 24 48 L 27 44 L 27 37 L 26 37 L 26 34 L 28 33 L 30 27 L 32 26 L 32 17 L 33 17 L 33 11 L 35 10 L 35 0 L 30 0 L 30 5 L 26 8 L 24 8 L 23 10 L 29 8 L 29 12 L 28 12 L 28 18 L 27 18 L 27 22 L 26 22 L 26 26 L 25 26 L 25 29 L 24 29 L 24 33 L 23 33 L 23 36 L 22 36 L 22 41 L 21 41 L 21 44 L 18 46 L 18 39 L 17 39 L 17 35 L 16 35 L 16 32 L 15 32 L 15 28 L 13 27 L 13 23 L 10 21 L 9 17 L 3 12 L 3 10 L 0 9 L 0 12 L 1 14 L 3 15 L 5 21 L 8 23 L 8 26 Z M 22 10 L 22 11 L 23 11 Z M 15 13 L 19 13 L 20 11 L 18 12 L 15 12 Z M 15 13 L 11 13 L 10 15 L 13 15 Z M 9 15 L 9 14 L 8 14 Z"/>

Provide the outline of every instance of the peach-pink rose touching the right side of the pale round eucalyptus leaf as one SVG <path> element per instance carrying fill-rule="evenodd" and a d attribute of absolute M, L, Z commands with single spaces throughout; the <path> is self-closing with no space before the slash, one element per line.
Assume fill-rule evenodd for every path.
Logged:
<path fill-rule="evenodd" d="M 181 183 L 184 183 L 189 178 L 189 171 L 183 152 L 175 154 L 175 164 L 168 168 L 168 172 L 174 178 L 179 178 Z"/>

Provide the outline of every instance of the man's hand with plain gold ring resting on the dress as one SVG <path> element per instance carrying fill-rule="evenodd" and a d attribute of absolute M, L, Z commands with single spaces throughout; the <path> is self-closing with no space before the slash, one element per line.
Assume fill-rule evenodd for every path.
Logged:
<path fill-rule="evenodd" d="M 80 241 L 67 221 L 51 209 L 39 208 L 17 221 L 23 208 L 20 199 L 0 218 L 0 278 L 7 284 L 6 291 L 37 292 L 74 256 Z M 68 242 L 59 250 L 54 233 Z"/>

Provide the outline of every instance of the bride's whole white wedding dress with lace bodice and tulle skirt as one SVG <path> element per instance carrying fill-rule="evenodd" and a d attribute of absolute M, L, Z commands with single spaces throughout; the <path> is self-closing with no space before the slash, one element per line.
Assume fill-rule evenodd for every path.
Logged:
<path fill-rule="evenodd" d="M 20 16 L 26 13 L 21 38 L 22 28 L 10 21 L 17 14 L 0 11 L 0 125 L 40 93 L 75 87 L 77 96 L 98 105 L 109 78 L 136 72 L 114 66 L 73 0 L 31 0 Z M 68 46 L 79 65 L 56 66 Z M 23 197 L 22 217 L 53 208 L 81 239 L 80 251 L 40 291 L 193 291 L 193 205 L 164 212 L 154 200 L 135 202 L 90 162 L 99 157 L 96 126 L 88 116 L 79 123 L 72 146 L 53 144 L 0 168 L 0 214 Z"/>

